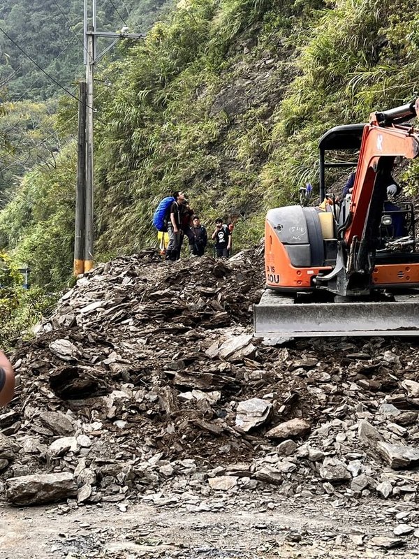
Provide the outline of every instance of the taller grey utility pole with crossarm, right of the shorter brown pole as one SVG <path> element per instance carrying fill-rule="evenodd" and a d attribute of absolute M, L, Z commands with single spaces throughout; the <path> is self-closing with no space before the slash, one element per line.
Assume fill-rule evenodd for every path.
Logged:
<path fill-rule="evenodd" d="M 88 272 L 93 268 L 94 260 L 94 65 L 101 60 L 120 39 L 145 38 L 143 33 L 128 33 L 128 28 L 123 27 L 119 33 L 109 31 L 96 31 L 96 0 L 91 0 L 91 10 L 89 17 L 89 7 L 84 0 L 83 5 L 83 30 L 84 30 L 84 64 L 86 66 L 86 161 L 85 161 L 85 212 L 84 212 L 84 263 L 83 270 L 79 273 Z M 96 55 L 97 37 L 113 38 L 114 41 L 105 48 L 99 55 Z M 78 268 L 80 269 L 80 267 Z"/>

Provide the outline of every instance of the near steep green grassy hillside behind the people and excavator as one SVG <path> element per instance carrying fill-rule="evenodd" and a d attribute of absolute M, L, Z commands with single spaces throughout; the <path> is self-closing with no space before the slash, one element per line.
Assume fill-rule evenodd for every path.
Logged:
<path fill-rule="evenodd" d="M 316 186 L 328 128 L 413 99 L 418 46 L 407 0 L 182 0 L 98 75 L 96 257 L 155 242 L 152 212 L 173 189 L 207 224 L 240 215 L 236 247 L 260 238 L 267 207 Z M 69 99 L 61 134 L 76 115 Z M 0 212 L 0 246 L 50 286 L 71 274 L 75 144 L 55 161 Z M 417 164 L 401 178 L 415 188 Z"/>

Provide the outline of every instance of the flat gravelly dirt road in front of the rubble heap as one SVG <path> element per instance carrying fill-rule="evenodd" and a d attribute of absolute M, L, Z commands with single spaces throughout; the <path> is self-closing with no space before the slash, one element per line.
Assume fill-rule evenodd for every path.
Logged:
<path fill-rule="evenodd" d="M 297 503 L 273 498 L 235 503 L 237 495 L 231 505 L 208 501 L 210 510 L 200 507 L 201 512 L 196 507 L 146 504 L 128 506 L 125 512 L 111 504 L 75 509 L 66 504 L 4 506 L 0 558 L 418 557 L 419 540 L 414 535 L 393 533 L 397 518 L 418 516 L 416 504 L 316 499 Z"/>

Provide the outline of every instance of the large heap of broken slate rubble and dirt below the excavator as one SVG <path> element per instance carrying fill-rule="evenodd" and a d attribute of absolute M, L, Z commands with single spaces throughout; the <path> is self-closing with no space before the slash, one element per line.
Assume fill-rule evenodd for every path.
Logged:
<path fill-rule="evenodd" d="M 415 501 L 416 342 L 255 339 L 262 274 L 258 247 L 229 261 L 143 252 L 79 279 L 15 354 L 1 493 L 124 507 L 267 483 Z"/>

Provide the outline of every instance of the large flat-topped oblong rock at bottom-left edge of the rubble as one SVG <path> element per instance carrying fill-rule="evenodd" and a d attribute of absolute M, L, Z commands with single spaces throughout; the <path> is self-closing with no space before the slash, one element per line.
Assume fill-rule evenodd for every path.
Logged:
<path fill-rule="evenodd" d="M 77 495 L 73 474 L 34 474 L 6 481 L 6 498 L 13 504 L 41 504 Z"/>

